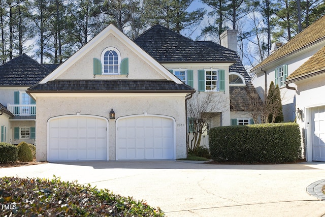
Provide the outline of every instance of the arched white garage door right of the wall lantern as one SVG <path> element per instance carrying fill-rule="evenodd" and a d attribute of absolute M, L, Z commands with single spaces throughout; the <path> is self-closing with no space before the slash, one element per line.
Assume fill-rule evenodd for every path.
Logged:
<path fill-rule="evenodd" d="M 172 119 L 135 116 L 120 119 L 117 124 L 117 160 L 174 158 Z"/>

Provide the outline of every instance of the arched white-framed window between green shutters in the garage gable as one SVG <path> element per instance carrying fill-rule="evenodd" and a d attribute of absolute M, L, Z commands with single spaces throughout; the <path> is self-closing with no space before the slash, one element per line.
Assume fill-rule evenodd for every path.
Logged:
<path fill-rule="evenodd" d="M 108 47 L 102 52 L 103 75 L 120 74 L 121 54 L 114 47 Z"/>

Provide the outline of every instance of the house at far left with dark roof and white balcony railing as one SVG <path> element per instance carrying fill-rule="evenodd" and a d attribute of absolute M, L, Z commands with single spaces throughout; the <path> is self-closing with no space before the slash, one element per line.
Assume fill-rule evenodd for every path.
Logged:
<path fill-rule="evenodd" d="M 36 102 L 26 94 L 31 85 L 48 75 L 57 65 L 41 65 L 22 54 L 0 66 L 1 141 L 35 144 Z M 0 111 L 1 113 L 1 111 Z"/>

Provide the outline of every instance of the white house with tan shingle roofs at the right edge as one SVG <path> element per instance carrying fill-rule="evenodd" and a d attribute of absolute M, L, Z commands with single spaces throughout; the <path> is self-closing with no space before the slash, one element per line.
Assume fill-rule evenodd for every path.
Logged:
<path fill-rule="evenodd" d="M 264 86 L 265 74 L 268 83 L 279 84 L 285 121 L 297 117 L 307 161 L 325 161 L 324 26 L 325 16 L 252 69 L 259 86 Z"/>

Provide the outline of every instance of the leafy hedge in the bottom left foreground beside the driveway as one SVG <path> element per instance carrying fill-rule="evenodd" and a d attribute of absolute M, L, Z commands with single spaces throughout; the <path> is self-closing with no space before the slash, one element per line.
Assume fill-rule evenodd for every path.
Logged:
<path fill-rule="evenodd" d="M 2 177 L 0 204 L 2 216 L 164 216 L 143 201 L 59 178 Z"/>

